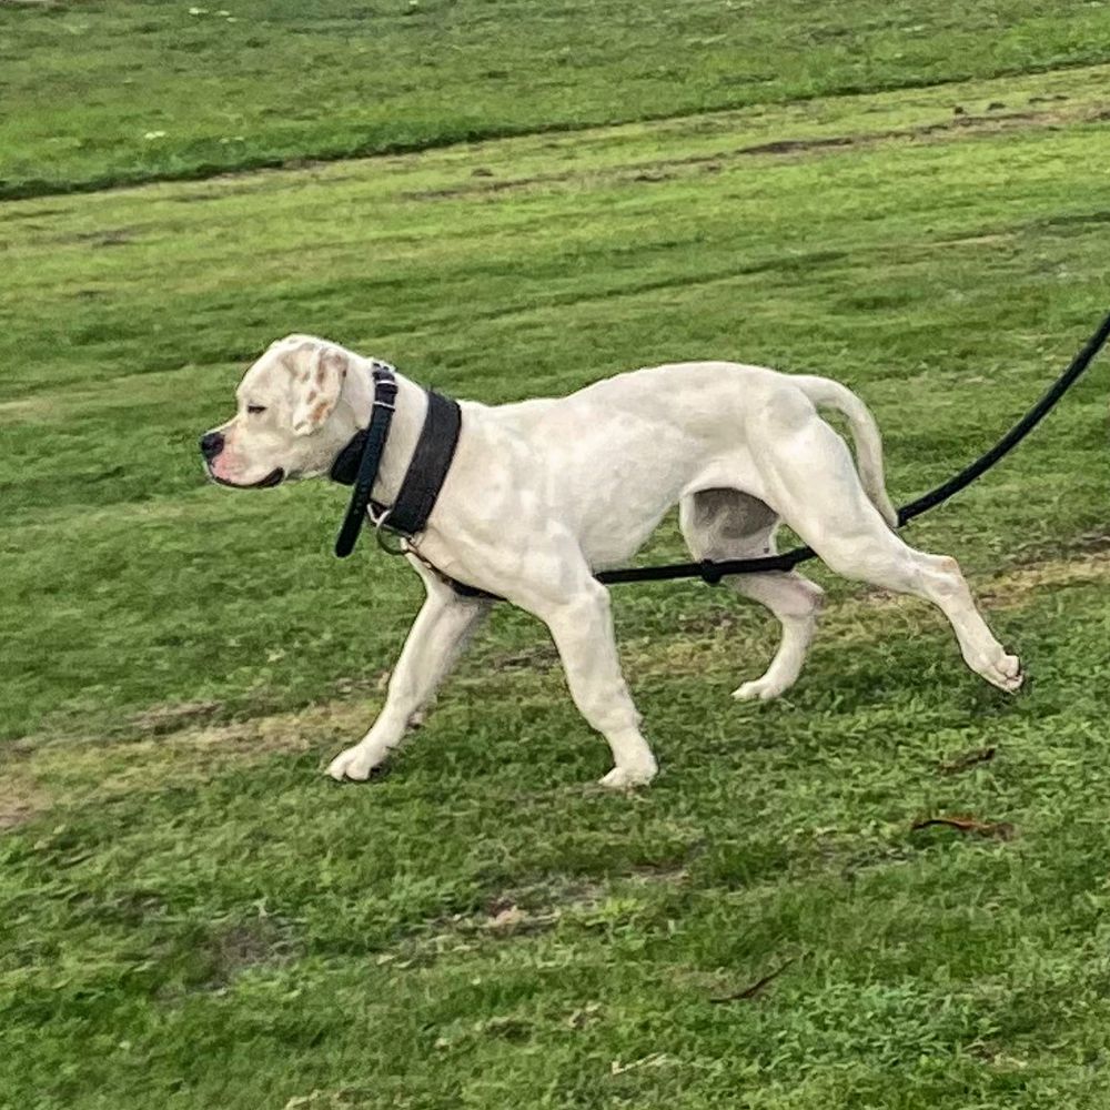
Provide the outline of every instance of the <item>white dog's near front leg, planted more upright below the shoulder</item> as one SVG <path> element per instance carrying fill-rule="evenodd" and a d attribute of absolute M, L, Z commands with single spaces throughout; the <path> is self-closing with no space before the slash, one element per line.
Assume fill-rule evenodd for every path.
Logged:
<path fill-rule="evenodd" d="M 589 578 L 557 603 L 526 607 L 551 629 L 574 704 L 608 740 L 614 766 L 602 786 L 623 789 L 649 783 L 658 768 L 620 674 L 608 591 Z"/>

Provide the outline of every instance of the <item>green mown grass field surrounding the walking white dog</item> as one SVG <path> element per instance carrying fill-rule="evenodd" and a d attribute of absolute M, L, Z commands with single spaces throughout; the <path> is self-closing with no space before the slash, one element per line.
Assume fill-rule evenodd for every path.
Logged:
<path fill-rule="evenodd" d="M 905 502 L 1108 307 L 1110 9 L 196 7 L 0 4 L 0 1108 L 1110 1107 L 1107 359 L 909 533 L 1027 693 L 818 569 L 737 705 L 761 609 L 618 587 L 633 796 L 508 609 L 326 780 L 418 584 L 195 454 L 293 331 L 491 402 L 728 357 L 856 389 Z"/>

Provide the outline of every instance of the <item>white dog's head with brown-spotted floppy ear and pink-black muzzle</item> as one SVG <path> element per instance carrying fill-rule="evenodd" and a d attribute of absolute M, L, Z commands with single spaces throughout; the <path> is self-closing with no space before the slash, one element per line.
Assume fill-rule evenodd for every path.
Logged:
<path fill-rule="evenodd" d="M 326 474 L 359 431 L 343 402 L 350 360 L 311 335 L 274 343 L 240 382 L 235 415 L 201 437 L 209 475 L 246 490 Z"/>

